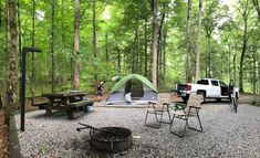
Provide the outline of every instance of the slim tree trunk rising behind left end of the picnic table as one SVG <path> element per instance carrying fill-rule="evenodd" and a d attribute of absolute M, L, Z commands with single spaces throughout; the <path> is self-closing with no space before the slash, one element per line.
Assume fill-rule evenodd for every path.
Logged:
<path fill-rule="evenodd" d="M 51 77 L 52 77 L 52 93 L 55 92 L 55 55 L 54 55 L 54 15 L 55 15 L 55 0 L 51 1 L 51 39 L 50 39 L 50 54 L 51 54 Z"/>

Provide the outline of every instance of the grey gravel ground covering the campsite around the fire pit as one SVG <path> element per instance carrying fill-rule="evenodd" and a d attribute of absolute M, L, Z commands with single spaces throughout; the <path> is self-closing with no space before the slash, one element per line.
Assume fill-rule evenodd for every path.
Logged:
<path fill-rule="evenodd" d="M 260 107 L 239 105 L 238 113 L 226 103 L 202 104 L 204 133 L 187 129 L 184 138 L 169 133 L 169 125 L 159 129 L 144 126 L 145 108 L 94 107 L 77 119 L 62 113 L 45 117 L 44 110 L 27 113 L 25 131 L 19 131 L 24 157 L 238 157 L 260 158 Z M 152 118 L 152 117 L 150 117 Z M 20 127 L 20 115 L 15 116 Z M 150 119 L 150 122 L 153 122 Z M 121 154 L 98 154 L 89 146 L 89 130 L 76 131 L 77 123 L 94 127 L 122 126 L 133 133 L 133 146 Z M 196 125 L 197 122 L 190 122 Z M 183 124 L 176 124 L 176 129 Z"/>

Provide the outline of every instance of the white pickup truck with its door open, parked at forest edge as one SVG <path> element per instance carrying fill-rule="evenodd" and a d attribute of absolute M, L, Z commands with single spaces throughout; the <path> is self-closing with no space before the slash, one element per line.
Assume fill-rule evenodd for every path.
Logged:
<path fill-rule="evenodd" d="M 239 98 L 239 89 L 233 87 L 236 97 Z M 202 78 L 197 81 L 197 84 L 178 84 L 177 93 L 187 102 L 190 93 L 200 93 L 202 94 L 205 102 L 206 98 L 216 98 L 217 102 L 220 102 L 222 98 L 229 98 L 230 87 L 226 83 L 219 80 L 214 78 Z"/>

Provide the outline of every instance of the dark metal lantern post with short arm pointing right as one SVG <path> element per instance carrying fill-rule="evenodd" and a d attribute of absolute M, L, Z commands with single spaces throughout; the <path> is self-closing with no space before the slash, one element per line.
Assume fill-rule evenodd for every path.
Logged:
<path fill-rule="evenodd" d="M 21 130 L 24 131 L 24 115 L 25 115 L 25 72 L 27 72 L 27 53 L 40 53 L 40 49 L 22 48 L 22 69 L 21 69 L 21 86 L 20 86 L 20 101 L 21 101 Z"/>

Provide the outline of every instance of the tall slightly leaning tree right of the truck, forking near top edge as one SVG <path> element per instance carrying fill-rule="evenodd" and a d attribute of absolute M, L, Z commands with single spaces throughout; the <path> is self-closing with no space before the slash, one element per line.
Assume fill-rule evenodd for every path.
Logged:
<path fill-rule="evenodd" d="M 242 15 L 243 19 L 243 39 L 242 39 L 242 53 L 241 53 L 241 57 L 240 57 L 240 70 L 239 70 L 239 88 L 241 92 L 243 92 L 243 60 L 245 60 L 245 54 L 247 52 L 247 44 L 248 44 L 248 40 L 249 40 L 249 35 L 248 35 L 248 17 L 250 13 L 250 9 L 249 9 L 249 0 L 239 1 L 239 4 L 241 8 L 238 8 L 240 14 Z"/>

